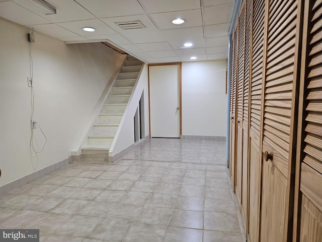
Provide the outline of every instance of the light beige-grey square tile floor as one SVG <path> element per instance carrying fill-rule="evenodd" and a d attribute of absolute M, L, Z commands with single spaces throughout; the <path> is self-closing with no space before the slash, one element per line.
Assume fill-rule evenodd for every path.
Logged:
<path fill-rule="evenodd" d="M 243 242 L 225 142 L 153 138 L 115 164 L 72 162 L 0 198 L 40 241 Z"/>

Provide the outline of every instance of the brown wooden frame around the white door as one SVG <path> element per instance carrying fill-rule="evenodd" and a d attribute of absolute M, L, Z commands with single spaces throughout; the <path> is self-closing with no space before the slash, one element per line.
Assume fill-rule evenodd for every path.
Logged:
<path fill-rule="evenodd" d="M 150 67 L 157 66 L 179 66 L 179 138 L 182 135 L 182 63 L 174 62 L 174 63 L 156 63 L 156 64 L 148 64 L 147 65 L 147 79 L 148 79 L 148 90 L 149 90 L 149 132 L 151 138 L 151 105 L 150 105 Z"/>

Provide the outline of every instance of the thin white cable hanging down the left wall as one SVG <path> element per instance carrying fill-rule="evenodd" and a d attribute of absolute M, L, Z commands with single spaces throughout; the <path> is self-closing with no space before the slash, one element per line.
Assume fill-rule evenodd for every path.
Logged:
<path fill-rule="evenodd" d="M 32 33 L 34 32 L 34 29 L 32 30 Z M 33 59 L 32 59 L 32 48 L 31 48 L 31 42 L 29 42 L 29 65 L 30 65 L 30 77 L 31 77 L 31 80 L 33 81 Z M 46 146 L 46 143 L 47 143 L 47 137 L 46 135 L 44 134 L 43 130 L 41 129 L 40 125 L 37 123 L 37 122 L 34 122 L 33 121 L 33 117 L 34 117 L 34 111 L 35 111 L 35 92 L 34 92 L 34 89 L 33 89 L 33 85 L 31 85 L 30 87 L 30 90 L 31 90 L 31 116 L 30 116 L 30 130 L 31 130 L 31 135 L 30 135 L 30 155 L 32 158 L 37 158 L 38 160 L 38 157 L 37 157 L 37 154 L 38 153 L 41 153 L 45 146 Z M 34 129 L 35 129 L 35 126 L 38 126 L 42 135 L 44 136 L 45 138 L 45 143 L 44 145 L 42 146 L 41 149 L 38 149 L 38 142 L 37 142 L 37 139 L 34 137 Z M 35 142 L 36 142 L 36 145 L 35 145 Z M 34 165 L 33 165 L 34 166 Z M 35 168 L 35 167 L 34 167 Z"/>

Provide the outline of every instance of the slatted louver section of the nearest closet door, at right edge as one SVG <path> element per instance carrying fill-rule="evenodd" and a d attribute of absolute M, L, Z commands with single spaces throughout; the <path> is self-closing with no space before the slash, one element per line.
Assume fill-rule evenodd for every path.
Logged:
<path fill-rule="evenodd" d="M 322 1 L 315 1 L 309 13 L 304 162 L 322 173 Z"/>

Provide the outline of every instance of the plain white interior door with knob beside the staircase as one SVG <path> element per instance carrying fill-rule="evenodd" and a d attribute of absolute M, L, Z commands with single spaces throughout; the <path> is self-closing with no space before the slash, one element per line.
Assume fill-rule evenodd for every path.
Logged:
<path fill-rule="evenodd" d="M 151 66 L 151 137 L 180 137 L 179 65 Z"/>

